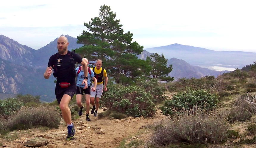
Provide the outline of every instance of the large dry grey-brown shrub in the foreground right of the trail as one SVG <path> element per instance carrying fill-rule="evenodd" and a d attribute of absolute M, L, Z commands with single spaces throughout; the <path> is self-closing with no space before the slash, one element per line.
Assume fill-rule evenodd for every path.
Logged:
<path fill-rule="evenodd" d="M 148 145 L 155 147 L 170 144 L 218 144 L 227 139 L 227 114 L 200 109 L 183 110 L 168 120 L 163 120 L 155 129 Z"/>

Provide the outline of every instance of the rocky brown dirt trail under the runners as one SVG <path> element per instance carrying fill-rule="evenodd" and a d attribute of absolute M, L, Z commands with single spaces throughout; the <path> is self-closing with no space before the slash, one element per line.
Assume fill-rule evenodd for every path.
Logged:
<path fill-rule="evenodd" d="M 98 112 L 100 113 L 103 111 L 99 110 Z M 157 110 L 156 115 L 152 118 L 128 117 L 126 119 L 118 120 L 109 118 L 99 119 L 98 117 L 93 117 L 91 114 L 89 116 L 91 121 L 86 121 L 84 114 L 79 119 L 73 120 L 76 135 L 75 139 L 72 141 L 65 140 L 67 128 L 62 120 L 58 129 L 50 129 L 47 131 L 42 131 L 40 129 L 14 131 L 11 132 L 9 136 L 0 139 L 0 143 L 3 144 L 3 147 L 25 148 L 24 143 L 26 141 L 35 137 L 43 137 L 48 139 L 48 144 L 46 146 L 41 146 L 43 148 L 118 147 L 124 138 L 131 136 L 137 136 L 136 138 L 138 138 L 136 133 L 140 131 L 141 127 L 152 125 L 155 122 L 166 118 L 166 116 L 160 113 L 160 110 Z M 16 138 L 10 140 L 11 137 Z"/>

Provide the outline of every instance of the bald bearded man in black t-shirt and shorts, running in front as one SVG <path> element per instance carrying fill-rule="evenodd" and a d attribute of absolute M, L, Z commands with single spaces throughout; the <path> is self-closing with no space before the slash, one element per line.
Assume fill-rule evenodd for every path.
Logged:
<path fill-rule="evenodd" d="M 82 83 L 87 86 L 88 67 L 87 63 L 82 60 L 79 54 L 68 51 L 68 39 L 65 36 L 60 36 L 57 40 L 58 53 L 52 55 L 48 62 L 48 67 L 43 74 L 44 78 L 49 79 L 51 73 L 57 78 L 55 86 L 55 95 L 64 121 L 67 123 L 68 140 L 73 140 L 75 128 L 71 121 L 71 111 L 68 104 L 71 98 L 76 93 L 77 87 L 75 82 L 76 72 L 74 71 L 76 62 L 80 63 L 84 69 L 85 79 Z M 53 71 L 52 71 L 53 69 Z"/>

